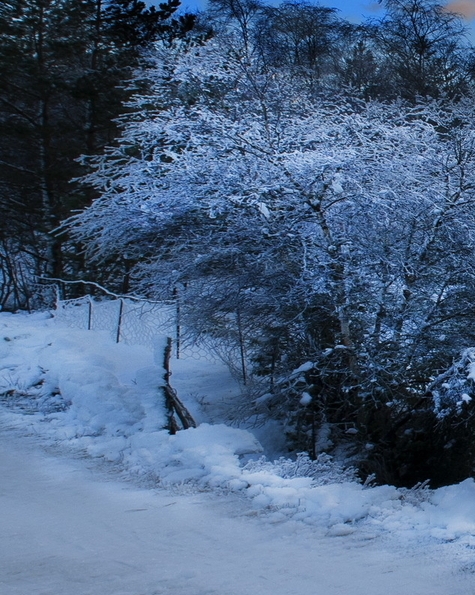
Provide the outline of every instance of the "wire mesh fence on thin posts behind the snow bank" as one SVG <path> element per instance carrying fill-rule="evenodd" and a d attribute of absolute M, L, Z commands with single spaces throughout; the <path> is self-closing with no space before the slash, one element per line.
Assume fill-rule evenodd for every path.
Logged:
<path fill-rule="evenodd" d="M 87 293 L 64 299 L 65 293 L 74 295 L 75 287 L 81 286 Z M 224 363 L 244 385 L 253 376 L 242 334 L 238 333 L 237 340 L 212 336 L 203 329 L 198 336 L 190 332 L 182 323 L 179 292 L 171 300 L 152 302 L 124 298 L 94 282 L 38 278 L 34 294 L 35 309 L 54 310 L 56 321 L 65 327 L 106 331 L 117 343 L 143 345 L 153 351 L 163 337 L 169 337 L 173 358 Z"/>

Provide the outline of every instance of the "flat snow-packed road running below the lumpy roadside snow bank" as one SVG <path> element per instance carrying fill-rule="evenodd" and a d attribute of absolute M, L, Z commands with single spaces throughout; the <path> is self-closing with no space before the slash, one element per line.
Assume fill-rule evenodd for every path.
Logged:
<path fill-rule="evenodd" d="M 0 433 L 1 595 L 472 595 L 443 550 L 264 523 Z M 95 465 L 95 466 L 94 466 Z M 393 551 L 391 551 L 391 549 Z"/>

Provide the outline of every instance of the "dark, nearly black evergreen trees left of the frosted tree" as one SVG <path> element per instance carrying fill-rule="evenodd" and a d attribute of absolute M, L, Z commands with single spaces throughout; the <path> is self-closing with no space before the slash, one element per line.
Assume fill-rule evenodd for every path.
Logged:
<path fill-rule="evenodd" d="M 179 3 L 7 0 L 0 6 L 0 304 L 28 306 L 34 276 L 74 274 L 53 230 L 92 195 L 77 159 L 113 142 L 141 49 L 186 36 Z"/>

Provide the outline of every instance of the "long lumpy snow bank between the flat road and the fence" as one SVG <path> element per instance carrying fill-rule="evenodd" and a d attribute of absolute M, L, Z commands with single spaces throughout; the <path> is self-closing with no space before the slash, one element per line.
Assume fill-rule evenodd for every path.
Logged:
<path fill-rule="evenodd" d="M 368 487 L 322 457 L 311 462 L 251 458 L 262 451 L 248 431 L 201 423 L 169 435 L 161 386 L 165 339 L 156 351 L 114 344 L 107 332 L 58 326 L 46 314 L 0 314 L 0 402 L 5 423 L 120 465 L 162 485 L 191 484 L 246 495 L 255 511 L 326 527 L 405 538 L 458 541 L 475 537 L 475 483 L 403 490 Z M 193 369 L 195 366 L 195 370 Z M 203 361 L 187 363 L 181 390 L 200 394 Z M 208 364 L 209 370 L 212 365 Z M 183 369 L 185 369 L 183 368 Z M 196 373 L 194 373 L 194 371 Z M 220 372 L 221 373 L 221 372 Z M 177 379 L 178 381 L 178 379 Z M 223 383 L 220 376 L 219 382 Z M 209 403 L 215 401 L 216 409 Z M 210 418 L 222 407 L 208 399 Z M 192 403 L 197 408 L 197 402 Z"/>

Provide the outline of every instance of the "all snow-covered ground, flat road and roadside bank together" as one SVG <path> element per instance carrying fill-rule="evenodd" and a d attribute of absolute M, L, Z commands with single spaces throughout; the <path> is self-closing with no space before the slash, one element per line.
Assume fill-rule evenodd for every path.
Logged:
<path fill-rule="evenodd" d="M 219 423 L 236 386 L 205 361 L 174 364 L 201 423 L 170 436 L 162 347 L 0 314 L 2 595 L 473 594 L 472 480 L 300 477 Z"/>

